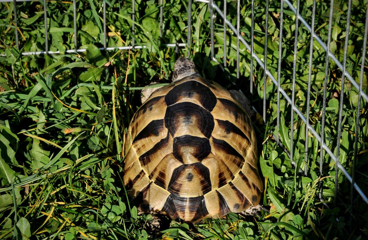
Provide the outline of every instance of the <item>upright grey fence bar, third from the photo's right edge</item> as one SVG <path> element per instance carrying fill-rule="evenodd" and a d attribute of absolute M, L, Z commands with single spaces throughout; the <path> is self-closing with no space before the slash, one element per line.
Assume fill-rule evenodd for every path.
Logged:
<path fill-rule="evenodd" d="M 327 93 L 327 79 L 329 77 L 329 51 L 331 43 L 331 29 L 332 29 L 332 13 L 333 13 L 333 0 L 330 1 L 330 16 L 328 20 L 328 36 L 327 36 L 327 49 L 326 49 L 326 67 L 325 67 L 325 81 L 323 86 L 323 103 L 322 103 L 322 123 L 321 123 L 321 148 L 319 151 L 319 175 L 322 176 L 323 169 L 323 143 L 325 143 L 325 119 L 326 119 L 326 93 Z M 319 199 L 322 199 L 323 186 L 319 186 Z"/>

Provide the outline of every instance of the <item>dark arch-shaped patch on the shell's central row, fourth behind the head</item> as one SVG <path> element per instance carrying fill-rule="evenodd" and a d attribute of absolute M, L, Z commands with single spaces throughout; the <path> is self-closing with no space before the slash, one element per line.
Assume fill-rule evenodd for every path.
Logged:
<path fill-rule="evenodd" d="M 173 175 L 171 176 L 167 190 L 173 194 L 180 194 L 181 186 L 185 184 L 185 182 L 178 182 L 178 177 L 181 175 L 183 171 L 185 171 L 187 167 L 194 167 L 198 170 L 198 172 L 202 177 L 201 186 L 198 187 L 201 188 L 203 194 L 208 193 L 212 188 L 211 179 L 208 168 L 204 166 L 202 163 L 183 164 L 175 168 Z"/>

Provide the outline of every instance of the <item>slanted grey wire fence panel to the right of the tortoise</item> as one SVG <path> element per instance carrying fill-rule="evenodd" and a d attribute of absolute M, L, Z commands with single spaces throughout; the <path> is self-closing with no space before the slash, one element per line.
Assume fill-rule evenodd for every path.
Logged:
<path fill-rule="evenodd" d="M 213 4 L 211 1 L 208 2 L 209 4 Z M 284 4 L 285 3 L 285 4 Z M 237 6 L 239 6 L 239 1 L 237 3 Z M 266 1 L 265 5 L 265 9 L 266 9 L 266 12 L 268 12 L 268 4 L 269 4 L 269 1 Z M 361 58 L 361 73 L 360 74 L 356 74 L 355 75 L 355 79 L 357 79 L 357 81 L 355 81 L 355 79 L 353 78 L 353 76 L 347 71 L 347 68 L 346 68 L 346 64 L 347 64 L 347 50 L 349 48 L 349 45 L 348 45 L 348 36 L 349 36 L 349 26 L 350 26 L 350 15 L 351 15 L 351 1 L 349 1 L 348 3 L 348 8 L 347 8 L 347 16 L 346 16 L 346 34 L 345 34 L 345 41 L 344 43 L 344 52 L 343 52 L 343 58 L 341 58 L 341 55 L 339 56 L 340 57 L 340 61 L 342 61 L 342 63 L 337 59 L 337 57 L 331 52 L 331 51 L 326 51 L 327 50 L 327 47 L 326 47 L 326 44 L 323 43 L 323 41 L 321 40 L 320 36 L 318 36 L 317 34 L 311 34 L 311 38 L 310 38 L 310 50 L 309 50 L 309 71 L 308 71 L 308 78 L 307 78 L 307 81 L 308 81 L 308 86 L 307 86 L 307 103 L 309 104 L 309 101 L 310 101 L 310 97 L 311 97 L 311 77 L 312 77 L 312 71 L 314 71 L 313 67 L 312 67 L 312 64 L 313 64 L 313 44 L 314 42 L 318 42 L 318 44 L 320 44 L 320 46 L 326 51 L 326 55 L 325 55 L 325 58 L 326 58 L 326 65 L 325 65 L 325 77 L 324 77 L 324 88 L 323 88 L 323 98 L 322 98 L 322 106 L 323 106 L 323 110 L 322 110 L 322 120 L 321 120 L 321 124 L 322 124 L 322 128 L 321 130 L 319 129 L 315 129 L 316 125 L 312 126 L 311 124 L 309 124 L 309 107 L 307 107 L 305 109 L 305 114 L 303 114 L 301 112 L 301 108 L 300 107 L 297 107 L 295 105 L 295 87 L 296 87 L 296 79 L 297 78 L 301 78 L 301 76 L 296 76 L 296 69 L 297 69 L 297 65 L 298 65 L 298 62 L 297 62 L 297 54 L 298 54 L 298 32 L 301 32 L 301 30 L 298 30 L 298 31 L 295 31 L 295 37 L 294 37 L 294 57 L 293 57 L 293 72 L 292 72 L 292 76 L 288 76 L 292 79 L 292 89 L 291 89 L 291 97 L 290 95 L 283 90 L 283 88 L 280 86 L 281 83 L 280 83 L 280 74 L 282 72 L 282 37 L 283 37 L 283 32 L 282 32 L 282 24 L 283 24 L 283 8 L 284 8 L 284 5 L 286 5 L 287 7 L 289 7 L 289 9 L 294 13 L 296 14 L 296 19 L 295 19 L 295 29 L 298 29 L 298 23 L 301 22 L 302 24 L 304 24 L 304 27 L 307 31 L 309 31 L 309 33 L 314 33 L 314 18 L 315 18 L 315 2 L 313 3 L 313 10 L 312 10 L 312 21 L 311 21 L 311 25 L 309 25 L 309 23 L 299 14 L 299 5 L 300 5 L 300 1 L 297 1 L 296 2 L 296 7 L 293 6 L 293 4 L 288 1 L 288 0 L 285 0 L 285 1 L 281 1 L 281 11 L 280 11 L 280 18 L 279 18 L 279 21 L 280 21 L 280 37 L 279 37 L 279 65 L 278 65 L 278 74 L 277 74 L 277 77 L 274 77 L 274 74 L 269 72 L 268 71 L 268 68 L 267 68 L 267 39 L 268 39 L 268 35 L 269 33 L 265 34 L 265 37 L 264 37 L 264 44 L 265 44 L 265 47 L 264 47 L 264 58 L 263 59 L 260 59 L 258 55 L 256 54 L 253 54 L 252 55 L 252 58 L 255 58 L 256 61 L 258 62 L 258 64 L 261 66 L 261 68 L 264 69 L 264 74 L 263 74 L 263 84 L 266 84 L 266 77 L 268 76 L 272 81 L 273 81 L 273 84 L 275 84 L 277 86 L 277 94 L 279 95 L 280 93 L 283 95 L 283 97 L 286 98 L 287 102 L 289 104 L 291 104 L 291 106 L 293 106 L 293 110 L 297 113 L 297 117 L 299 117 L 305 124 L 307 124 L 307 128 L 305 128 L 306 132 L 305 132 L 305 136 L 308 135 L 308 132 L 310 131 L 311 134 L 314 135 L 314 137 L 318 140 L 318 142 L 320 142 L 320 145 L 321 145 L 321 149 L 320 149 L 320 162 L 321 162 L 321 165 L 320 165 L 320 170 L 321 170 L 321 175 L 322 175 L 322 168 L 323 168 L 323 159 L 325 157 L 325 155 L 323 154 L 323 150 L 325 150 L 329 156 L 327 157 L 330 157 L 333 161 L 336 162 L 336 170 L 335 170 L 335 204 L 336 204 L 336 201 L 337 201 L 337 190 L 338 190 L 338 174 L 339 174 L 339 171 L 343 172 L 343 174 L 346 176 L 346 178 L 348 179 L 348 181 L 351 182 L 352 184 L 352 189 L 356 189 L 357 192 L 360 194 L 360 196 L 362 197 L 362 199 L 368 203 L 368 199 L 367 199 L 367 196 L 365 195 L 365 193 L 356 185 L 355 182 L 352 181 L 352 177 L 351 175 L 346 171 L 346 169 L 344 168 L 344 166 L 342 166 L 342 164 L 340 163 L 340 161 L 346 161 L 346 159 L 341 159 L 339 161 L 339 152 L 340 152 L 340 141 L 341 141 L 341 133 L 342 133 L 342 129 L 343 129 L 343 126 L 342 126 L 342 117 L 344 115 L 344 112 L 343 112 L 343 102 L 344 102 L 344 86 L 346 85 L 345 83 L 345 77 L 348 79 L 348 81 L 350 81 L 348 83 L 348 85 L 350 86 L 353 85 L 353 88 L 355 88 L 355 91 L 357 92 L 357 98 L 358 99 L 361 99 L 361 97 L 363 97 L 363 99 L 365 99 L 365 101 L 367 101 L 367 95 L 364 91 L 362 91 L 362 88 L 361 88 L 361 84 L 362 84 L 362 81 L 363 81 L 363 75 L 364 75 L 364 59 L 365 59 L 365 47 L 366 47 L 366 35 L 367 35 L 367 31 L 365 30 L 364 32 L 364 39 L 363 39 L 363 43 L 362 43 L 362 52 L 360 54 L 362 54 L 362 58 Z M 333 1 L 331 2 L 330 6 L 333 6 Z M 237 37 L 237 42 L 238 40 L 240 39 L 242 41 L 242 43 L 247 47 L 248 51 L 251 51 L 253 52 L 253 49 L 248 45 L 248 43 L 244 40 L 243 37 L 240 36 L 240 34 L 238 34 L 239 32 L 239 21 L 237 21 L 237 27 L 233 26 L 231 24 L 231 22 L 225 18 L 225 15 L 223 14 L 222 10 L 217 7 L 216 5 L 214 5 L 214 8 L 215 10 L 219 13 L 219 15 L 226 20 L 227 22 L 227 25 L 230 27 L 230 30 L 233 31 L 234 35 L 236 35 Z M 330 35 L 331 35 L 331 31 L 332 31 L 332 12 L 333 12 L 333 7 L 330 7 L 330 18 L 329 18 L 329 26 L 328 26 L 328 41 L 327 41 L 327 46 L 330 46 Z M 289 10 L 289 11 L 290 11 Z M 238 14 L 239 14 L 239 9 L 238 9 Z M 252 12 L 253 12 L 253 9 L 252 9 Z M 289 13 L 290 14 L 290 13 Z M 252 14 L 253 15 L 253 14 Z M 234 17 L 237 17 L 237 19 L 239 20 L 239 15 L 235 16 Z M 224 20 L 224 21 L 225 21 Z M 252 24 L 254 24 L 254 18 L 252 19 Z M 252 25 L 253 26 L 253 25 Z M 365 24 L 365 26 L 367 26 Z M 252 30 L 254 30 L 252 28 Z M 268 31 L 268 14 L 266 14 L 266 21 L 265 21 L 265 31 L 267 32 Z M 289 33 L 290 34 L 290 33 Z M 254 42 L 254 38 L 251 38 L 251 45 L 253 45 L 253 42 Z M 237 44 L 238 46 L 238 44 Z M 331 48 L 331 47 L 330 47 Z M 237 47 L 237 50 L 239 50 L 239 47 Z M 351 54 L 351 53 L 350 53 Z M 329 80 L 329 59 L 332 58 L 334 64 L 337 65 L 337 67 L 339 68 L 339 70 L 341 71 L 341 92 L 340 92 L 340 100 L 339 100 L 339 114 L 338 114 L 338 119 L 339 119 L 339 122 L 337 124 L 337 142 L 336 142 L 336 145 L 326 145 L 325 143 L 325 139 L 324 139 L 324 133 L 325 133 L 325 130 L 324 130 L 324 127 L 325 127 L 325 111 L 326 111 L 326 89 L 328 88 L 328 80 Z M 226 58 L 225 58 L 226 60 Z M 252 61 L 252 59 L 251 59 Z M 239 61 L 239 51 L 237 51 L 237 77 L 239 77 L 239 65 L 240 65 L 240 61 Z M 224 63 L 224 66 L 226 66 L 226 63 Z M 351 69 L 352 70 L 352 69 Z M 354 73 L 357 73 L 357 70 L 354 71 Z M 276 75 L 276 74 L 275 74 Z M 358 77 L 360 76 L 360 77 Z M 284 76 L 285 77 L 285 76 Z M 277 79 L 277 81 L 276 81 Z M 279 87 L 280 86 L 280 87 Z M 263 85 L 263 89 L 266 88 L 266 85 Z M 350 86 L 351 88 L 351 86 Z M 263 93 L 263 120 L 265 121 L 266 120 L 266 110 L 267 110 L 267 107 L 266 107 L 266 91 L 262 91 Z M 316 99 L 317 100 L 317 99 Z M 357 121 L 359 121 L 359 114 L 358 112 L 361 111 L 360 109 L 360 100 L 359 102 L 357 101 L 356 102 L 358 104 L 357 108 L 354 108 L 354 112 L 356 111 L 357 112 Z M 280 108 L 280 101 L 278 100 L 277 101 L 277 109 Z M 305 115 L 307 117 L 305 117 Z M 277 110 L 277 132 L 279 132 L 279 129 L 280 129 L 280 115 L 279 115 L 279 110 Z M 294 114 L 291 114 L 291 123 L 294 123 Z M 356 125 L 356 128 L 355 128 L 355 131 L 358 131 L 359 129 L 359 124 Z M 294 128 L 290 128 L 290 139 L 292 139 L 290 141 L 290 159 L 293 160 L 294 158 L 294 148 L 293 148 L 293 143 L 294 141 L 298 141 L 298 139 L 296 140 L 293 140 L 294 139 Z M 318 134 L 318 132 L 320 132 L 320 134 Z M 346 132 L 347 133 L 347 132 Z M 277 141 L 279 140 L 279 135 L 276 134 L 275 138 L 277 139 Z M 364 138 L 361 139 L 363 142 L 365 141 Z M 355 135 L 355 142 L 358 141 L 358 134 Z M 356 145 L 356 144 L 355 144 Z M 356 148 L 357 146 L 355 146 L 354 148 Z M 353 149 L 353 148 L 352 148 Z M 335 151 L 335 153 L 333 153 L 333 151 Z M 353 151 L 352 151 L 353 152 Z M 308 174 L 308 158 L 310 158 L 310 156 L 308 156 L 308 137 L 305 138 L 305 164 L 304 164 L 304 174 L 307 175 Z M 344 156 L 346 157 L 346 156 Z M 353 158 L 356 159 L 356 150 L 354 150 L 354 156 Z M 355 160 L 352 164 L 352 166 L 355 166 Z M 353 174 L 355 174 L 354 171 L 352 171 Z M 353 187 L 354 185 L 354 187 Z M 320 196 L 322 194 L 322 190 L 320 192 Z M 353 199 L 353 198 L 352 198 Z"/>

